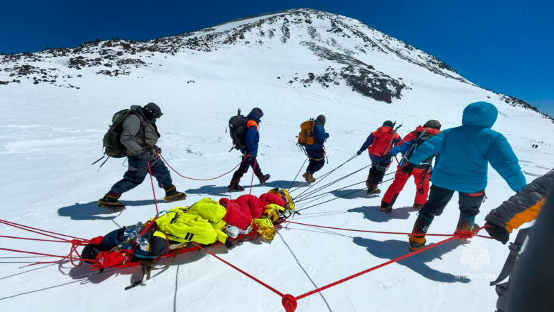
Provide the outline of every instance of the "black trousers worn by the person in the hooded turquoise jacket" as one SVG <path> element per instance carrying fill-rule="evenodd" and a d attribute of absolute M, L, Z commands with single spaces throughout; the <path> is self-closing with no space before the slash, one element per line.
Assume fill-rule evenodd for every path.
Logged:
<path fill-rule="evenodd" d="M 459 193 L 459 192 L 458 192 Z M 436 185 L 431 185 L 429 199 L 423 205 L 418 219 L 413 225 L 413 233 L 427 233 L 429 225 L 433 222 L 435 216 L 443 214 L 446 205 L 454 196 L 454 191 L 443 189 Z M 471 230 L 475 223 L 475 216 L 479 214 L 481 203 L 485 199 L 485 191 L 479 193 L 459 193 L 458 205 L 460 208 L 460 218 L 456 229 L 463 231 Z"/>

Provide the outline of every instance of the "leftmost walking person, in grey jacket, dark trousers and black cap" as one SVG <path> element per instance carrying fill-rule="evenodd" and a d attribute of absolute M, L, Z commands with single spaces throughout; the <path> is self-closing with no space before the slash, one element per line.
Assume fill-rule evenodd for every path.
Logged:
<path fill-rule="evenodd" d="M 154 103 L 148 103 L 145 107 L 131 106 L 131 114 L 123 121 L 120 137 L 121 144 L 126 148 L 129 166 L 123 179 L 114 184 L 110 191 L 98 200 L 98 207 L 109 208 L 112 211 L 125 209 L 125 206 L 119 202 L 121 194 L 138 187 L 144 181 L 149 173 L 148 164 L 159 187 L 166 191 L 166 196 L 163 198 L 165 202 L 186 198 L 186 193 L 177 191 L 172 184 L 168 168 L 158 157 L 161 148 L 156 145 L 160 138 L 156 119 L 162 115 L 160 107 Z"/>

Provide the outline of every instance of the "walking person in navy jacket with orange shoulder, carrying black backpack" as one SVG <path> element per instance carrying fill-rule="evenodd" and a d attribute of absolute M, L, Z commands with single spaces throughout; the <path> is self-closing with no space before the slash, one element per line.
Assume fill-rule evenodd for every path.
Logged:
<path fill-rule="evenodd" d="M 237 171 L 231 178 L 231 184 L 229 184 L 229 191 L 237 192 L 244 191 L 244 187 L 239 185 L 240 178 L 244 173 L 248 172 L 248 167 L 252 167 L 254 174 L 258 177 L 261 184 L 265 184 L 269 180 L 270 175 L 264 175 L 260 164 L 258 164 L 258 143 L 260 142 L 260 119 L 264 113 L 258 107 L 254 107 L 250 114 L 248 114 L 247 131 L 244 134 L 244 142 L 246 148 L 241 148 L 242 163 L 238 167 Z"/>

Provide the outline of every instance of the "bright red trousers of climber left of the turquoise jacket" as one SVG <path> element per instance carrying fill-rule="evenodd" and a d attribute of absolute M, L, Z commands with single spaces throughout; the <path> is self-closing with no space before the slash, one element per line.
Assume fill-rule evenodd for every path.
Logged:
<path fill-rule="evenodd" d="M 404 189 L 404 185 L 408 182 L 408 179 L 413 175 L 413 180 L 415 182 L 415 187 L 417 191 L 415 192 L 415 204 L 423 205 L 427 202 L 427 196 L 429 195 L 429 180 L 431 175 L 426 171 L 429 169 L 418 169 L 414 168 L 411 175 L 406 175 L 402 172 L 400 166 L 397 167 L 396 174 L 394 175 L 393 184 L 386 190 L 385 195 L 383 196 L 383 202 L 388 203 L 389 205 L 394 205 L 398 194 Z M 422 179 L 423 183 L 421 183 Z"/>

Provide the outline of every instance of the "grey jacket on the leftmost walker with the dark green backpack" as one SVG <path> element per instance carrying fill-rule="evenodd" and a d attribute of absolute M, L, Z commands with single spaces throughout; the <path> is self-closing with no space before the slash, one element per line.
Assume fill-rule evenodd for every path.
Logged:
<path fill-rule="evenodd" d="M 123 121 L 120 141 L 127 148 L 127 156 L 140 156 L 152 151 L 161 135 L 156 121 L 147 119 L 141 106 L 132 105 L 131 112 L 132 114 Z"/>

